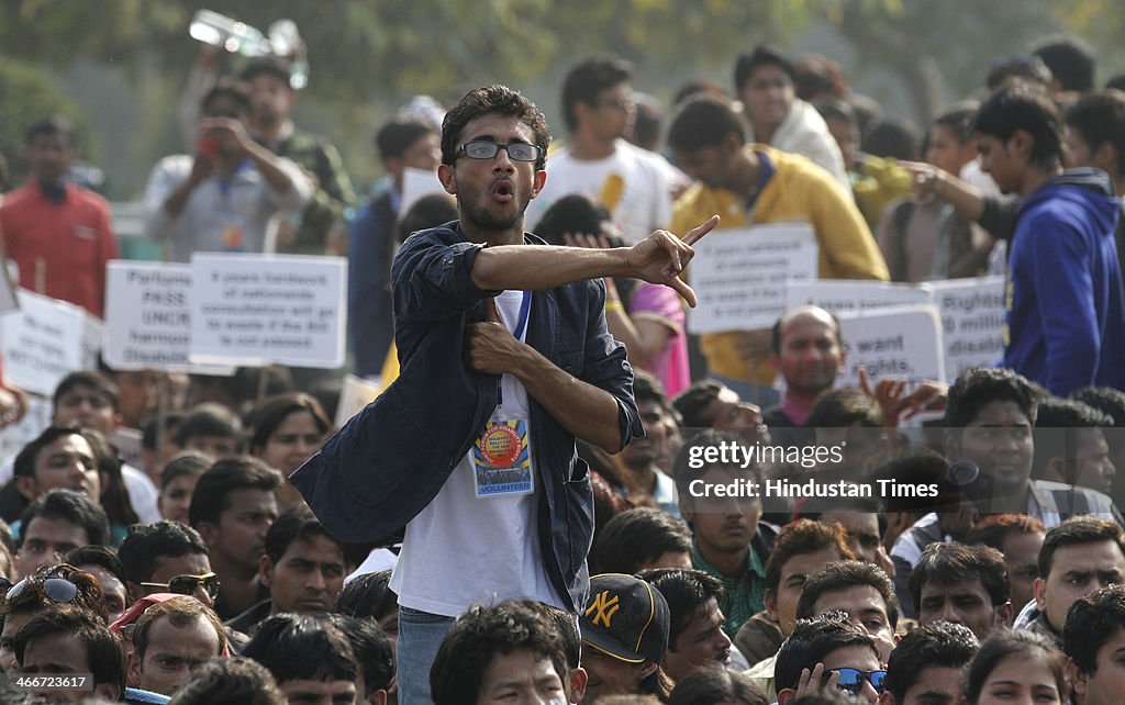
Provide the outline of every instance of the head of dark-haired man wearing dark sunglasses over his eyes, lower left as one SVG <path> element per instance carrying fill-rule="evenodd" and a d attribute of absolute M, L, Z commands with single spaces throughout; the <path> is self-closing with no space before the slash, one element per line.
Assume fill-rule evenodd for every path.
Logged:
<path fill-rule="evenodd" d="M 117 557 L 137 597 L 176 593 L 215 605 L 219 579 L 212 571 L 206 544 L 190 526 L 169 521 L 132 526 Z"/>

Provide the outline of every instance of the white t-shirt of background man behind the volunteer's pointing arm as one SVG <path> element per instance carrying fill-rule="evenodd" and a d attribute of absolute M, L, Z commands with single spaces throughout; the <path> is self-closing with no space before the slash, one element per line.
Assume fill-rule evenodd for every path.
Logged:
<path fill-rule="evenodd" d="M 547 162 L 547 183 L 528 205 L 524 224 L 531 232 L 551 205 L 564 196 L 582 193 L 609 208 L 629 243 L 647 237 L 672 222 L 672 184 L 664 157 L 618 139 L 613 154 L 601 160 L 576 160 L 559 150 Z M 615 174 L 620 189 L 606 187 Z M 603 190 L 605 193 L 603 193 Z M 616 196 L 620 193 L 620 196 Z M 603 196 L 616 202 L 603 202 Z"/>

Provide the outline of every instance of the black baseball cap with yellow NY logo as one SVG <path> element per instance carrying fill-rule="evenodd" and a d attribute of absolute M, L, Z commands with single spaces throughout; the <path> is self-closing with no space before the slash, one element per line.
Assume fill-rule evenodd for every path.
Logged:
<path fill-rule="evenodd" d="M 584 644 L 627 663 L 664 660 L 672 622 L 664 595 L 622 573 L 590 579 L 590 604 L 582 615 Z"/>

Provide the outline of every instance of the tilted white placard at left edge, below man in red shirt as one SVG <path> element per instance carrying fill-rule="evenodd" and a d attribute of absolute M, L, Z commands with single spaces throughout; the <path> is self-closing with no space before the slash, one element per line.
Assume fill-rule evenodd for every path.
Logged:
<path fill-rule="evenodd" d="M 97 368 L 100 323 L 73 304 L 17 291 L 19 309 L 0 317 L 4 379 L 51 396 L 63 377 Z"/>

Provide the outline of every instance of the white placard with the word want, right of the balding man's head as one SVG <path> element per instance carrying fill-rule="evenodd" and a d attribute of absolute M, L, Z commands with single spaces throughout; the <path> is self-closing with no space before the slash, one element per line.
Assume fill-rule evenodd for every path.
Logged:
<path fill-rule="evenodd" d="M 837 387 L 857 387 L 861 364 L 872 379 L 899 377 L 910 385 L 945 379 L 942 323 L 934 306 L 896 306 L 839 319 L 847 369 Z"/>

